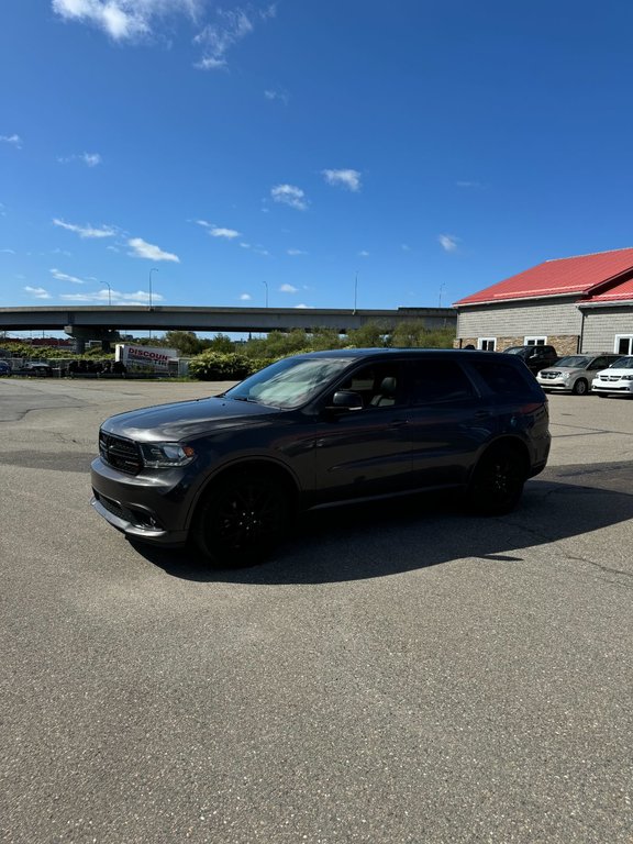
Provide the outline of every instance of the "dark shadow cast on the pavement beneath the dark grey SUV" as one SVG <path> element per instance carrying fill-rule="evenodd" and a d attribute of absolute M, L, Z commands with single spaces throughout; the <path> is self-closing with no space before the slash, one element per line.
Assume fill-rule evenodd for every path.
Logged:
<path fill-rule="evenodd" d="M 449 496 L 429 495 L 312 511 L 270 559 L 247 568 L 214 569 L 185 551 L 134 547 L 169 575 L 201 582 L 326 584 L 463 558 L 515 564 L 523 548 L 632 519 L 631 489 L 633 467 L 593 464 L 547 469 L 526 484 L 520 507 L 504 517 L 469 515 Z"/>

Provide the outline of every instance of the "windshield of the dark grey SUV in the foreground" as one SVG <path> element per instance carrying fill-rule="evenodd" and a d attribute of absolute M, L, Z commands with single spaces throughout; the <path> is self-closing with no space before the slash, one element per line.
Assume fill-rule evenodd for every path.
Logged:
<path fill-rule="evenodd" d="M 311 401 L 349 363 L 348 357 L 286 358 L 226 390 L 223 398 L 291 410 Z"/>

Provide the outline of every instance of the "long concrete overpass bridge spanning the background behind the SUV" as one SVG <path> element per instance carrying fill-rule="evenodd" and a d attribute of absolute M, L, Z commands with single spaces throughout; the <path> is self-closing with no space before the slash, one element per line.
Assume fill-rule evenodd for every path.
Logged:
<path fill-rule="evenodd" d="M 412 320 L 422 322 L 430 330 L 456 327 L 457 314 L 452 308 L 0 308 L 0 331 L 65 331 L 75 337 L 78 348 L 88 340 L 103 343 L 115 341 L 121 331 L 268 333 L 292 329 L 333 329 L 345 334 L 367 323 L 377 323 L 386 331 L 392 331 L 398 324 Z"/>

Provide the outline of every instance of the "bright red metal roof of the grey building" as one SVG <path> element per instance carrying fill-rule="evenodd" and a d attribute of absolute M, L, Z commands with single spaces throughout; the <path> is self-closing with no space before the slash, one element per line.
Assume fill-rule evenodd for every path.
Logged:
<path fill-rule="evenodd" d="M 546 260 L 491 287 L 459 299 L 455 304 L 481 304 L 544 296 L 588 296 L 623 273 L 633 271 L 633 248 Z M 614 288 L 615 289 L 615 288 Z M 630 288 L 630 291 L 633 287 Z M 604 293 L 600 293 L 604 296 Z M 620 296 L 619 298 L 626 298 Z M 630 297 L 629 297 L 630 298 Z M 595 297 L 598 300 L 598 296 Z M 593 301 L 593 299 L 592 299 Z M 609 300 L 608 300 L 609 301 Z"/>

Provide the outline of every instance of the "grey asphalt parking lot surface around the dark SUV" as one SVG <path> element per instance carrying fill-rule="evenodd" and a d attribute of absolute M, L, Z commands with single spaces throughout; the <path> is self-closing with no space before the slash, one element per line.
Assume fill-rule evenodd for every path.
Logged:
<path fill-rule="evenodd" d="M 88 468 L 220 388 L 0 380 L 0 840 L 631 844 L 633 402 L 552 397 L 511 515 L 327 511 L 213 573 Z"/>

